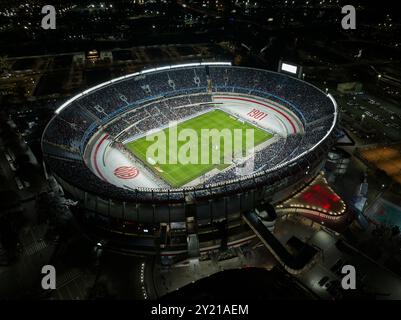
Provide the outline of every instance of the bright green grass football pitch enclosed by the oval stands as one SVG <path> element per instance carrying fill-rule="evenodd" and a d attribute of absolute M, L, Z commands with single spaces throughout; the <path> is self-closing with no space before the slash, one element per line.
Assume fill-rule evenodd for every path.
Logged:
<path fill-rule="evenodd" d="M 162 177 L 169 185 L 174 188 L 178 188 L 184 186 L 185 184 L 193 181 L 196 178 L 201 177 L 204 174 L 207 174 L 213 169 L 223 170 L 224 168 L 230 166 L 227 161 L 225 161 L 227 155 L 233 157 L 234 159 L 239 158 L 241 156 L 246 156 L 246 151 L 249 150 L 249 146 L 247 146 L 246 141 L 249 140 L 249 134 L 252 134 L 252 147 L 256 147 L 257 145 L 267 141 L 272 138 L 272 134 L 262 130 L 252 124 L 245 122 L 243 120 L 237 119 L 234 116 L 222 111 L 222 110 L 212 110 L 207 113 L 201 114 L 192 119 L 183 121 L 178 123 L 176 130 L 179 134 L 184 129 L 193 130 L 197 137 L 202 137 L 202 130 L 221 130 L 228 129 L 231 133 L 231 141 L 232 146 L 234 148 L 229 148 L 229 150 L 225 150 L 225 143 L 223 138 L 219 138 L 220 142 L 218 144 L 213 143 L 213 139 L 209 139 L 208 141 L 204 141 L 201 138 L 197 139 L 197 159 L 198 161 L 191 163 L 180 163 L 174 162 L 172 163 L 169 154 L 170 146 L 169 146 L 169 137 L 171 127 L 167 127 L 159 132 L 152 132 L 150 135 L 157 135 L 160 133 L 164 133 L 166 137 L 166 148 L 164 150 L 158 150 L 157 156 L 167 159 L 165 162 L 157 162 L 155 163 L 152 159 L 149 159 L 148 150 L 155 143 L 153 141 L 149 141 L 147 136 L 141 137 L 137 140 L 128 142 L 125 146 L 128 150 L 130 150 L 136 157 L 138 157 L 143 163 L 145 163 L 152 171 L 158 176 Z M 238 135 L 239 130 L 241 130 L 241 135 Z M 149 137 L 148 137 L 149 138 Z M 241 140 L 242 139 L 242 140 Z M 241 141 L 239 141 L 241 140 Z M 182 147 L 188 146 L 190 141 L 177 141 L 177 149 L 182 150 Z M 203 142 L 203 145 L 202 145 Z M 237 150 L 236 146 L 240 146 L 240 152 L 233 151 Z M 208 160 L 200 161 L 202 158 L 201 152 L 208 149 L 207 156 Z M 248 149 L 248 150 L 247 150 Z M 164 152 L 165 154 L 161 155 L 160 153 Z M 190 151 L 189 151 L 190 152 Z M 216 163 L 214 159 L 212 159 L 213 154 L 218 154 L 219 161 Z M 239 153 L 239 154 L 238 154 Z M 204 158 L 203 158 L 204 159 Z"/>

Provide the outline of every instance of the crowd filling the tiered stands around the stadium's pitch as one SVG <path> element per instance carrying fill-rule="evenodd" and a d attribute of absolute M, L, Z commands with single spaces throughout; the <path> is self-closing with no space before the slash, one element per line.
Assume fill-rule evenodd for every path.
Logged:
<path fill-rule="evenodd" d="M 79 160 L 79 150 L 86 143 L 84 134 L 88 138 L 102 126 L 117 141 L 124 141 L 207 110 L 212 102 L 210 90 L 268 98 L 303 120 L 305 134 L 279 138 L 247 160 L 254 162 L 255 172 L 273 168 L 310 149 L 333 122 L 331 100 L 300 80 L 249 68 L 193 67 L 139 75 L 83 95 L 52 120 L 43 137 L 43 151 L 50 166 L 74 184 L 107 189 L 108 184 Z M 205 184 L 237 178 L 234 167 L 205 177 Z"/>

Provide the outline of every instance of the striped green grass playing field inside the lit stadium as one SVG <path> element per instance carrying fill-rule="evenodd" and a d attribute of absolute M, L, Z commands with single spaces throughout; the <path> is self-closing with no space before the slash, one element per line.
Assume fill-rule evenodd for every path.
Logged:
<path fill-rule="evenodd" d="M 208 113 L 199 115 L 198 117 L 189 119 L 187 121 L 181 122 L 177 125 L 177 132 L 180 133 L 181 130 L 183 129 L 192 129 L 195 130 L 197 133 L 198 137 L 201 137 L 201 130 L 202 129 L 228 129 L 231 131 L 232 134 L 232 143 L 235 145 L 235 143 L 238 143 L 238 139 L 241 139 L 240 135 L 234 135 L 234 129 L 242 129 L 242 152 L 245 153 L 245 138 L 246 138 L 246 129 L 253 129 L 253 138 L 254 138 L 254 146 L 257 146 L 258 144 L 270 139 L 272 137 L 272 134 L 261 130 L 247 122 L 242 123 L 241 121 L 236 120 L 234 117 L 229 115 L 228 113 L 225 113 L 224 111 L 221 110 L 213 110 Z M 168 151 L 169 149 L 169 135 L 170 135 L 170 128 L 165 128 L 163 130 L 165 136 L 166 136 L 166 150 Z M 161 133 L 161 131 L 159 131 Z M 132 142 L 127 143 L 125 146 L 128 150 L 130 150 L 136 157 L 138 157 L 140 160 L 142 160 L 149 168 L 152 169 L 153 172 L 155 172 L 157 175 L 161 176 L 169 185 L 171 185 L 174 188 L 181 187 L 190 181 L 200 177 L 201 175 L 211 171 L 214 168 L 217 168 L 219 170 L 229 166 L 229 164 L 224 163 L 224 144 L 223 144 L 223 139 L 220 139 L 220 146 L 221 149 L 218 149 L 216 145 L 213 146 L 212 141 L 206 141 L 206 145 L 204 145 L 203 150 L 209 149 L 209 161 L 203 161 L 203 162 L 208 162 L 208 163 L 200 163 L 201 162 L 201 155 L 200 152 L 202 150 L 202 139 L 198 139 L 198 159 L 199 161 L 195 163 L 188 163 L 188 164 L 182 164 L 182 163 L 177 163 L 177 164 L 172 164 L 169 163 L 170 160 L 170 155 L 168 154 L 163 154 L 163 156 L 166 157 L 167 163 L 156 163 L 156 164 L 151 164 L 149 163 L 147 159 L 147 150 L 148 148 L 154 144 L 154 141 L 147 141 L 146 137 L 141 137 L 137 140 L 134 140 Z M 188 141 L 188 140 L 187 140 Z M 187 141 L 178 141 L 177 146 L 178 150 L 184 146 L 184 144 L 187 144 Z M 204 141 L 205 142 L 205 141 Z M 237 144 L 238 146 L 238 144 Z M 213 150 L 213 147 L 215 148 Z M 217 150 L 217 151 L 216 151 Z M 230 148 L 229 152 L 230 155 L 232 155 L 232 149 Z M 166 153 L 166 151 L 164 151 Z M 219 152 L 219 159 L 220 163 L 215 163 L 216 161 L 212 161 L 212 153 L 213 152 Z M 168 152 L 167 152 L 168 153 Z M 205 153 L 206 154 L 206 153 Z M 159 152 L 157 152 L 156 155 L 160 155 Z M 217 157 L 217 156 L 216 156 Z M 207 154 L 205 156 L 205 159 L 207 158 Z M 171 162 L 171 161 L 170 161 Z"/>

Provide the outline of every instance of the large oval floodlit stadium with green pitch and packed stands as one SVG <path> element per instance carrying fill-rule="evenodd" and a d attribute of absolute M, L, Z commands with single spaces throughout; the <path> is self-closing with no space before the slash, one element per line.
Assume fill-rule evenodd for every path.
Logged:
<path fill-rule="evenodd" d="M 222 234 L 228 246 L 251 241 L 241 214 L 280 203 L 312 181 L 334 144 L 336 121 L 331 95 L 302 80 L 228 62 L 188 63 L 126 75 L 69 99 L 47 125 L 42 151 L 95 241 L 130 253 L 185 255 L 218 248 Z M 195 143 L 224 163 L 149 156 L 149 136 L 170 141 L 185 129 L 241 132 L 237 138 L 250 130 L 253 144 L 232 151 L 220 137 Z"/>

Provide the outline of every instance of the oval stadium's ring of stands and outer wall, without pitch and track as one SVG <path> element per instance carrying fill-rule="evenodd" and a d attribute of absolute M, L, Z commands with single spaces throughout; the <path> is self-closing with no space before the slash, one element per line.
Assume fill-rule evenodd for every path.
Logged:
<path fill-rule="evenodd" d="M 302 127 L 296 145 L 284 146 L 279 161 L 250 175 L 181 189 L 121 188 L 91 168 L 95 142 L 105 132 L 120 137 L 125 113 L 176 96 L 213 105 L 208 99 L 222 94 L 269 101 L 295 114 Z M 46 127 L 42 150 L 64 191 L 79 201 L 77 217 L 95 241 L 130 253 L 186 255 L 191 235 L 198 253 L 218 248 L 222 233 L 229 246 L 251 241 L 241 213 L 263 201 L 278 203 L 311 181 L 334 144 L 336 121 L 334 99 L 299 79 L 231 63 L 190 63 L 137 72 L 71 98 Z"/>

